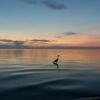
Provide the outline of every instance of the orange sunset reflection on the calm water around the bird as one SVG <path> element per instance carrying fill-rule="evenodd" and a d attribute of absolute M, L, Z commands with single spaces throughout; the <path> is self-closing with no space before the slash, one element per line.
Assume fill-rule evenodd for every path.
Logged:
<path fill-rule="evenodd" d="M 99 67 L 100 50 L 74 49 L 1 49 L 0 67 L 2 65 L 51 65 L 60 55 L 59 64 L 63 67 Z M 64 67 L 64 68 L 65 68 Z"/>

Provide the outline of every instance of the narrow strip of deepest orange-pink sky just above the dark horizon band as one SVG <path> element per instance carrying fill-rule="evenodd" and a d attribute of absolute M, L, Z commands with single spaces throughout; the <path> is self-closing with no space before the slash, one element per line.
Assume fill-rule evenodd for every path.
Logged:
<path fill-rule="evenodd" d="M 47 43 L 35 43 L 35 42 L 32 42 L 32 41 L 26 41 L 24 43 L 24 45 L 27 45 L 27 46 L 43 46 L 43 47 L 48 47 L 48 46 L 100 46 L 100 41 L 87 41 L 87 42 L 47 42 Z"/>

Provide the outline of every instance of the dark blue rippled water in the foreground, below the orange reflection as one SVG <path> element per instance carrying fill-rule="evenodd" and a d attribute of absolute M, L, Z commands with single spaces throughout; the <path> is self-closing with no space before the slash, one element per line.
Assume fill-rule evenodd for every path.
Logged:
<path fill-rule="evenodd" d="M 99 100 L 99 76 L 81 70 L 2 73 L 0 100 Z"/>

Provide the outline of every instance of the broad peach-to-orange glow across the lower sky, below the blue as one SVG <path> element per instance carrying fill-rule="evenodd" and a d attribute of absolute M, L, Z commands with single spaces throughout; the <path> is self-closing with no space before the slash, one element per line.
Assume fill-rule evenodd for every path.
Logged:
<path fill-rule="evenodd" d="M 51 38 L 50 38 L 51 37 Z M 0 35 L 0 39 L 8 39 L 13 41 L 23 41 L 23 45 L 25 46 L 35 46 L 35 47 L 50 47 L 50 46 L 97 46 L 100 47 L 100 40 L 96 38 L 95 35 L 82 34 L 75 36 L 65 36 L 63 38 L 56 38 L 49 36 L 33 36 L 26 37 L 22 34 L 2 34 Z M 45 41 L 32 41 L 34 39 L 37 40 L 47 40 Z M 0 45 L 15 45 L 14 42 L 0 41 Z"/>

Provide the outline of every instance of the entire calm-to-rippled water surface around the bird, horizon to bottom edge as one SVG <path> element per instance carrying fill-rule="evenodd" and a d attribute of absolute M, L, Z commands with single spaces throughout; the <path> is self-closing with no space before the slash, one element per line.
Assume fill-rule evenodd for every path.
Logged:
<path fill-rule="evenodd" d="M 0 50 L 0 100 L 100 100 L 100 50 Z"/>

